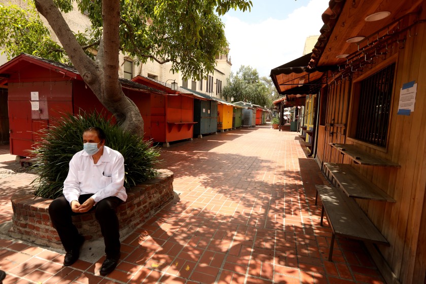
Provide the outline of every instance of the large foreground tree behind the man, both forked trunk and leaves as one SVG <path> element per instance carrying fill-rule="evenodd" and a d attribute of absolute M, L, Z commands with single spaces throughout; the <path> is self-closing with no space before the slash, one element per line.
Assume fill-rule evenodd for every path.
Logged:
<path fill-rule="evenodd" d="M 75 34 L 63 17 L 74 9 L 73 2 L 90 19 L 84 33 Z M 173 72 L 198 80 L 214 70 L 215 56 L 226 52 L 219 16 L 252 6 L 250 0 L 34 0 L 27 9 L 0 5 L 0 46 L 9 57 L 25 52 L 69 59 L 120 127 L 143 135 L 144 121 L 118 80 L 119 52 L 136 64 L 171 62 Z M 61 46 L 51 39 L 36 9 Z"/>

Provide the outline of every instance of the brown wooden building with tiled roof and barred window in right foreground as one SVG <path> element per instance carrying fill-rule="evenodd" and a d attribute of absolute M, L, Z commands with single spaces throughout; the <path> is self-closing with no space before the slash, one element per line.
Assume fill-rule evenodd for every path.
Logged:
<path fill-rule="evenodd" d="M 386 198 L 352 196 L 387 243 L 366 247 L 386 282 L 425 283 L 426 2 L 331 0 L 322 18 L 309 60 L 271 77 L 280 93 L 318 87 L 318 166 L 348 198 L 361 180 Z"/>

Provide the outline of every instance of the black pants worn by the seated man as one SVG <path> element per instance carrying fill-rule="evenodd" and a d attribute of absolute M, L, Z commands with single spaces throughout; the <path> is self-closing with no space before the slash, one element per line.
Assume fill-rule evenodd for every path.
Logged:
<path fill-rule="evenodd" d="M 79 203 L 83 204 L 93 194 L 83 194 L 79 197 Z M 100 231 L 105 242 L 105 253 L 109 258 L 118 258 L 120 256 L 120 226 L 118 223 L 116 208 L 123 202 L 120 198 L 112 196 L 100 200 L 93 208 L 96 210 L 95 217 L 99 222 Z M 49 205 L 50 220 L 53 227 L 58 231 L 62 245 L 66 252 L 77 248 L 77 241 L 81 239 L 79 231 L 73 224 L 73 215 L 76 213 L 71 210 L 69 202 L 64 196 L 60 196 Z"/>

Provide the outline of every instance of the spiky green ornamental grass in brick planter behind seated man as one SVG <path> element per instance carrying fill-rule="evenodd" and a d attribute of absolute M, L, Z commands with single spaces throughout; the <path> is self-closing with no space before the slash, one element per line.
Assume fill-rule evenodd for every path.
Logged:
<path fill-rule="evenodd" d="M 157 148 L 151 147 L 151 141 L 123 131 L 111 119 L 98 113 L 65 114 L 53 126 L 49 125 L 49 129 L 39 132 L 41 141 L 31 150 L 31 169 L 39 175 L 32 182 L 37 186 L 34 191 L 36 196 L 56 198 L 62 194 L 69 161 L 74 154 L 83 150 L 83 131 L 94 126 L 105 132 L 105 145 L 123 155 L 126 190 L 156 176 L 154 165 L 160 154 Z"/>

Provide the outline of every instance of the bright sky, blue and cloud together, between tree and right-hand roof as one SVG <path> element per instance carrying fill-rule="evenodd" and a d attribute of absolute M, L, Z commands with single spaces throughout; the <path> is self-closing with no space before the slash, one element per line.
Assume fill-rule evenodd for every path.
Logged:
<path fill-rule="evenodd" d="M 305 40 L 319 35 L 329 0 L 252 0 L 252 11 L 222 17 L 232 72 L 241 65 L 269 76 L 272 68 L 303 55 Z"/>

